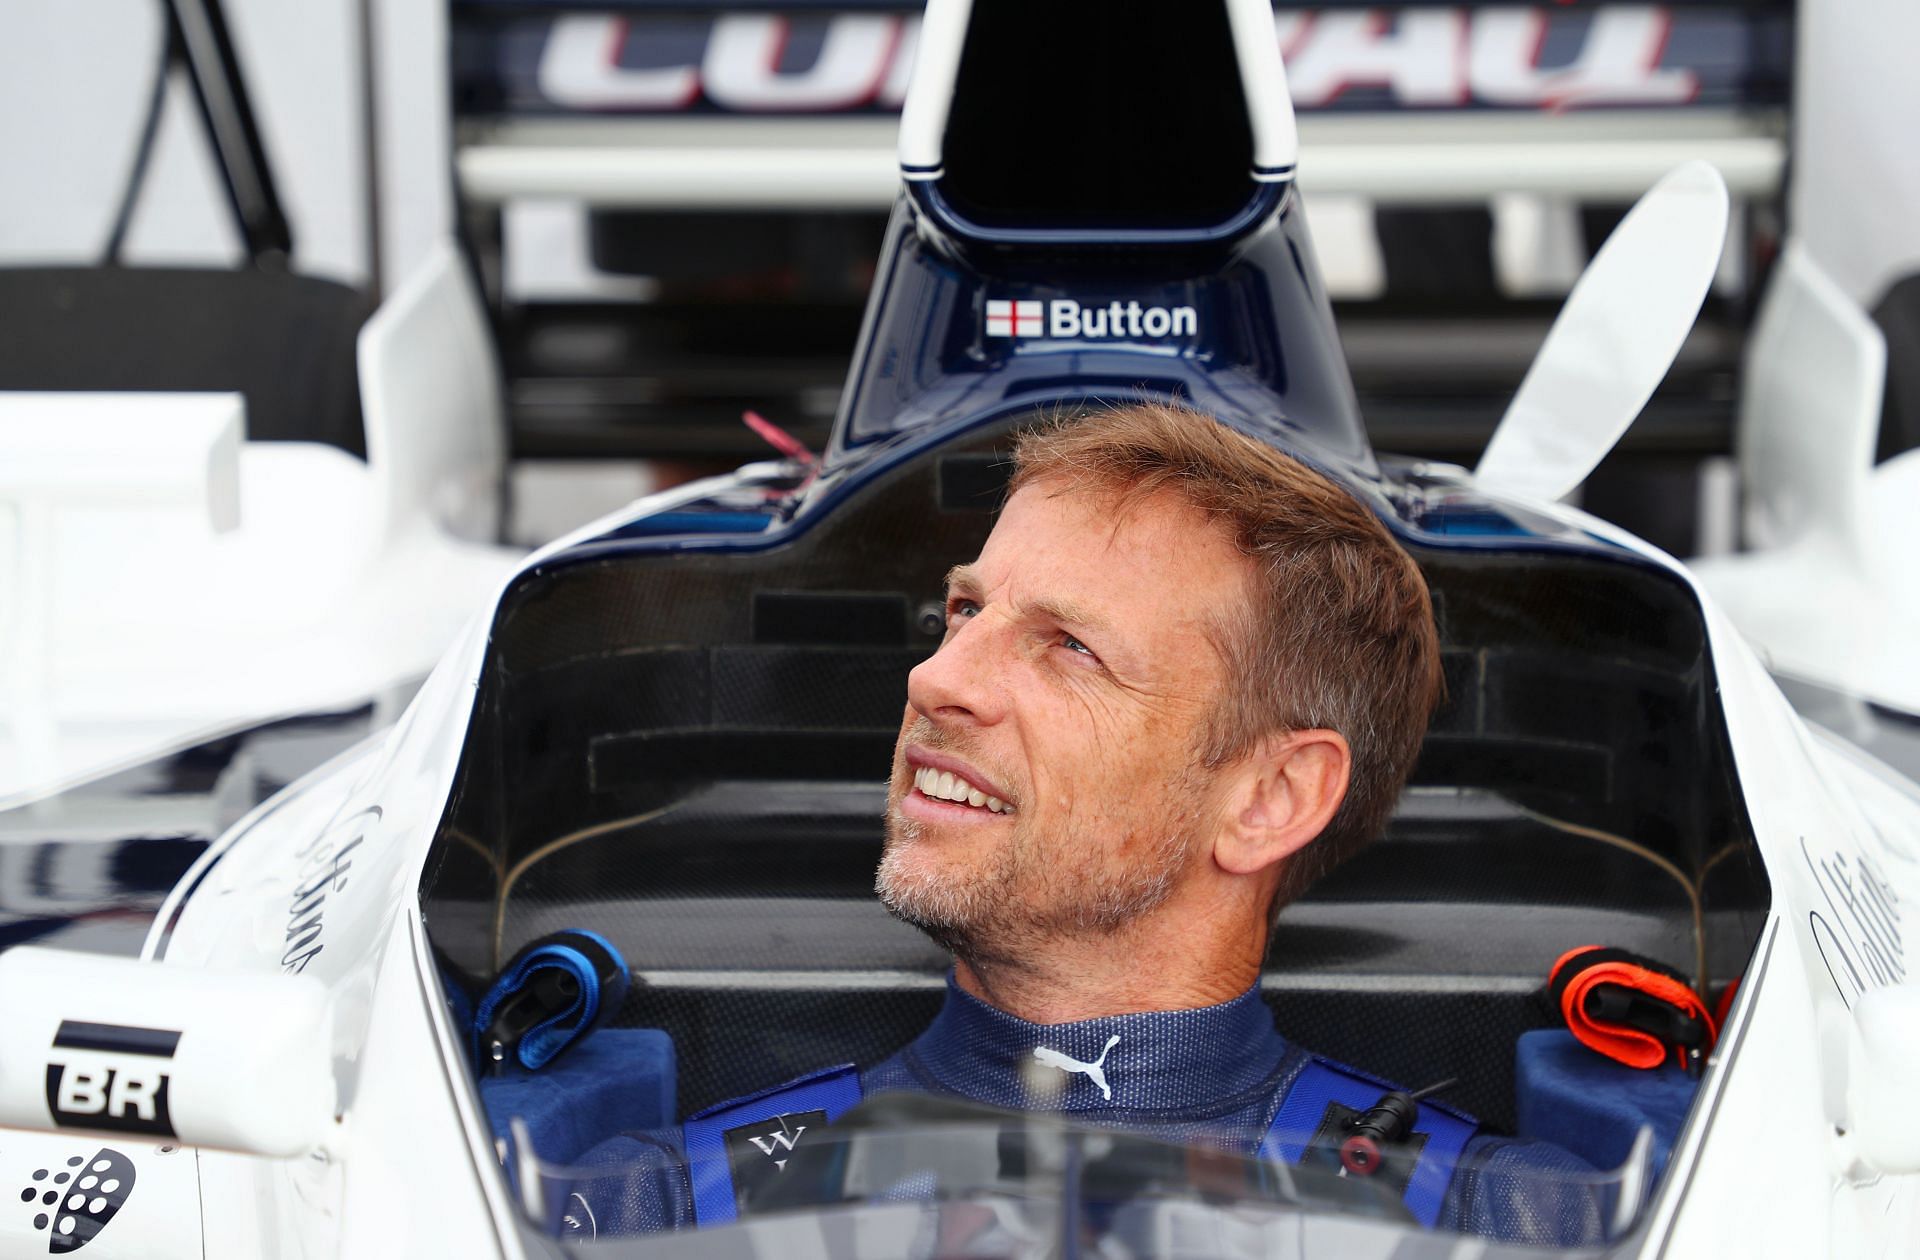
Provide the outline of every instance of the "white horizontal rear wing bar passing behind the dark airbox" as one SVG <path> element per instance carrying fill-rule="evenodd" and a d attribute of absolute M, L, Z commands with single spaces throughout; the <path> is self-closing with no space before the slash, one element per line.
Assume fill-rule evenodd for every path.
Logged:
<path fill-rule="evenodd" d="M 900 188 L 895 119 L 555 119 L 465 129 L 463 192 L 482 204 L 574 198 L 634 209 L 885 209 Z M 1634 200 L 1690 158 L 1734 196 L 1772 196 L 1778 115 L 1306 115 L 1308 194 L 1484 202 L 1503 192 Z"/>

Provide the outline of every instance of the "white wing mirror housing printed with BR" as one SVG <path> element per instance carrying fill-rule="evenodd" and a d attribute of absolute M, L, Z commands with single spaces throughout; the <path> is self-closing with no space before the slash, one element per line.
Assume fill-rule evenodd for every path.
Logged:
<path fill-rule="evenodd" d="M 4 1126 L 265 1156 L 338 1127 L 317 980 L 19 947 L 0 1010 Z"/>

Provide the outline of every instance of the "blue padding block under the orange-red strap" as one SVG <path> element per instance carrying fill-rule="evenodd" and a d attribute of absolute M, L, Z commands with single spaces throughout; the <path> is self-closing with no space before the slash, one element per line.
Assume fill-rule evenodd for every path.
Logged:
<path fill-rule="evenodd" d="M 1619 1168 L 1645 1124 L 1653 1127 L 1659 1175 L 1697 1087 L 1676 1064 L 1628 1068 L 1563 1028 L 1521 1033 L 1515 1053 L 1519 1135 L 1572 1151 L 1596 1168 Z"/>

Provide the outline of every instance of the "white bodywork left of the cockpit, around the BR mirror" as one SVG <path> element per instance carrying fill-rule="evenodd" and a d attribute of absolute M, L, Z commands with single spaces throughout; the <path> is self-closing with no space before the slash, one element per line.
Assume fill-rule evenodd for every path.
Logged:
<path fill-rule="evenodd" d="M 534 561 L 714 488 L 712 480 L 693 482 L 641 499 Z M 296 782 L 215 841 L 167 897 L 144 951 L 161 966 L 154 957 L 165 943 L 163 966 L 196 968 L 204 983 L 211 976 L 200 968 L 303 976 L 324 985 L 324 1037 L 342 1114 L 334 1143 L 267 1158 L 0 1129 L 0 1168 L 21 1187 L 33 1183 L 35 1170 L 63 1168 L 102 1145 L 134 1160 L 140 1189 L 88 1243 L 88 1254 L 520 1254 L 515 1208 L 459 1064 L 459 1033 L 438 995 L 417 899 L 467 738 L 486 628 L 484 617 L 468 622 L 392 730 Z M 125 1008 L 88 1006 L 88 999 L 111 995 L 73 997 L 58 1014 L 136 1022 Z M 228 1003 L 211 1031 L 232 1039 L 236 1051 L 265 1045 L 234 1037 L 252 1014 L 244 1001 Z M 4 1081 L 15 1089 L 15 1108 L 31 1106 L 38 1081 L 10 1074 L 0 1089 Z M 0 1254 L 46 1248 L 48 1233 L 33 1227 L 33 1216 L 0 1214 Z"/>

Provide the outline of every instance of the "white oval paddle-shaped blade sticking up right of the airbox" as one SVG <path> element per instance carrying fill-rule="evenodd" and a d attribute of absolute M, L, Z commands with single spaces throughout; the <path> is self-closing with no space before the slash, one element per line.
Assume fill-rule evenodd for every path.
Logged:
<path fill-rule="evenodd" d="M 1653 184 L 1580 275 L 1475 469 L 1484 490 L 1559 499 L 1667 376 L 1726 242 L 1726 181 L 1688 161 Z"/>

